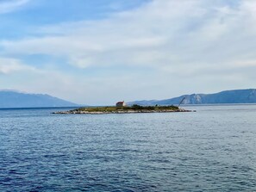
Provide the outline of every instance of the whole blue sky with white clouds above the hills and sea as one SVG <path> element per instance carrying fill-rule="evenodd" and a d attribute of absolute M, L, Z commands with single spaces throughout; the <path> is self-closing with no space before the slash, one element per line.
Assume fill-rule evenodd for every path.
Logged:
<path fill-rule="evenodd" d="M 71 102 L 256 88 L 254 0 L 0 0 L 0 90 Z"/>

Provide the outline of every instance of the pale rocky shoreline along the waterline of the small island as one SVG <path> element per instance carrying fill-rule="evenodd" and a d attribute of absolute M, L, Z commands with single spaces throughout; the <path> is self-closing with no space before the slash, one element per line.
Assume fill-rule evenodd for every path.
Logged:
<path fill-rule="evenodd" d="M 115 111 L 86 111 L 86 110 L 71 110 L 71 111 L 57 111 L 53 112 L 53 114 L 63 114 L 63 115 L 103 115 L 103 114 L 147 114 L 147 113 L 177 113 L 177 112 L 196 112 L 195 110 L 185 110 L 184 108 L 178 108 L 177 110 L 122 110 L 117 109 Z"/>

